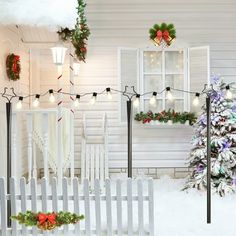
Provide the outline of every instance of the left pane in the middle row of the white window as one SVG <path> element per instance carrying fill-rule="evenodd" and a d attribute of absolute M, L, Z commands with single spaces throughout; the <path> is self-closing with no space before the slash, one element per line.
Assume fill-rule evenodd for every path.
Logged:
<path fill-rule="evenodd" d="M 161 75 L 145 75 L 144 76 L 144 91 L 159 92 L 163 89 L 163 82 Z"/>

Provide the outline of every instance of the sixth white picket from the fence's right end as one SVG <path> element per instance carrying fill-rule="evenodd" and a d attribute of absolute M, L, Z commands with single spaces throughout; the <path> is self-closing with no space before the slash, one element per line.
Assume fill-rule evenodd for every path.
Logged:
<path fill-rule="evenodd" d="M 94 194 L 96 207 L 96 234 L 101 235 L 101 198 L 99 179 L 95 179 Z"/>

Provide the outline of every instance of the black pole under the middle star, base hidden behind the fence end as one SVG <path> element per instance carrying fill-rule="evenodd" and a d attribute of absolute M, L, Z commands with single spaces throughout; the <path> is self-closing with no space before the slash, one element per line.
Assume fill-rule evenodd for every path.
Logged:
<path fill-rule="evenodd" d="M 132 178 L 132 101 L 127 101 L 128 178 Z"/>

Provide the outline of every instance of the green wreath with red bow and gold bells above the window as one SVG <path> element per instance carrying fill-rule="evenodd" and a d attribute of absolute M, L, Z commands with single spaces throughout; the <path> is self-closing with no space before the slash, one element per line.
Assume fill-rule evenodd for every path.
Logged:
<path fill-rule="evenodd" d="M 173 24 L 161 23 L 155 24 L 150 30 L 150 39 L 156 46 L 164 44 L 170 46 L 176 38 L 175 26 Z"/>

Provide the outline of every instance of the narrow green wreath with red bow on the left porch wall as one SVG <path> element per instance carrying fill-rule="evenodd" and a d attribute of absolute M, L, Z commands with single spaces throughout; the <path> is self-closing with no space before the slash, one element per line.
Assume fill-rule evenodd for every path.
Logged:
<path fill-rule="evenodd" d="M 10 80 L 19 80 L 20 79 L 20 56 L 11 53 L 7 56 L 6 59 L 6 70 L 7 77 Z"/>

